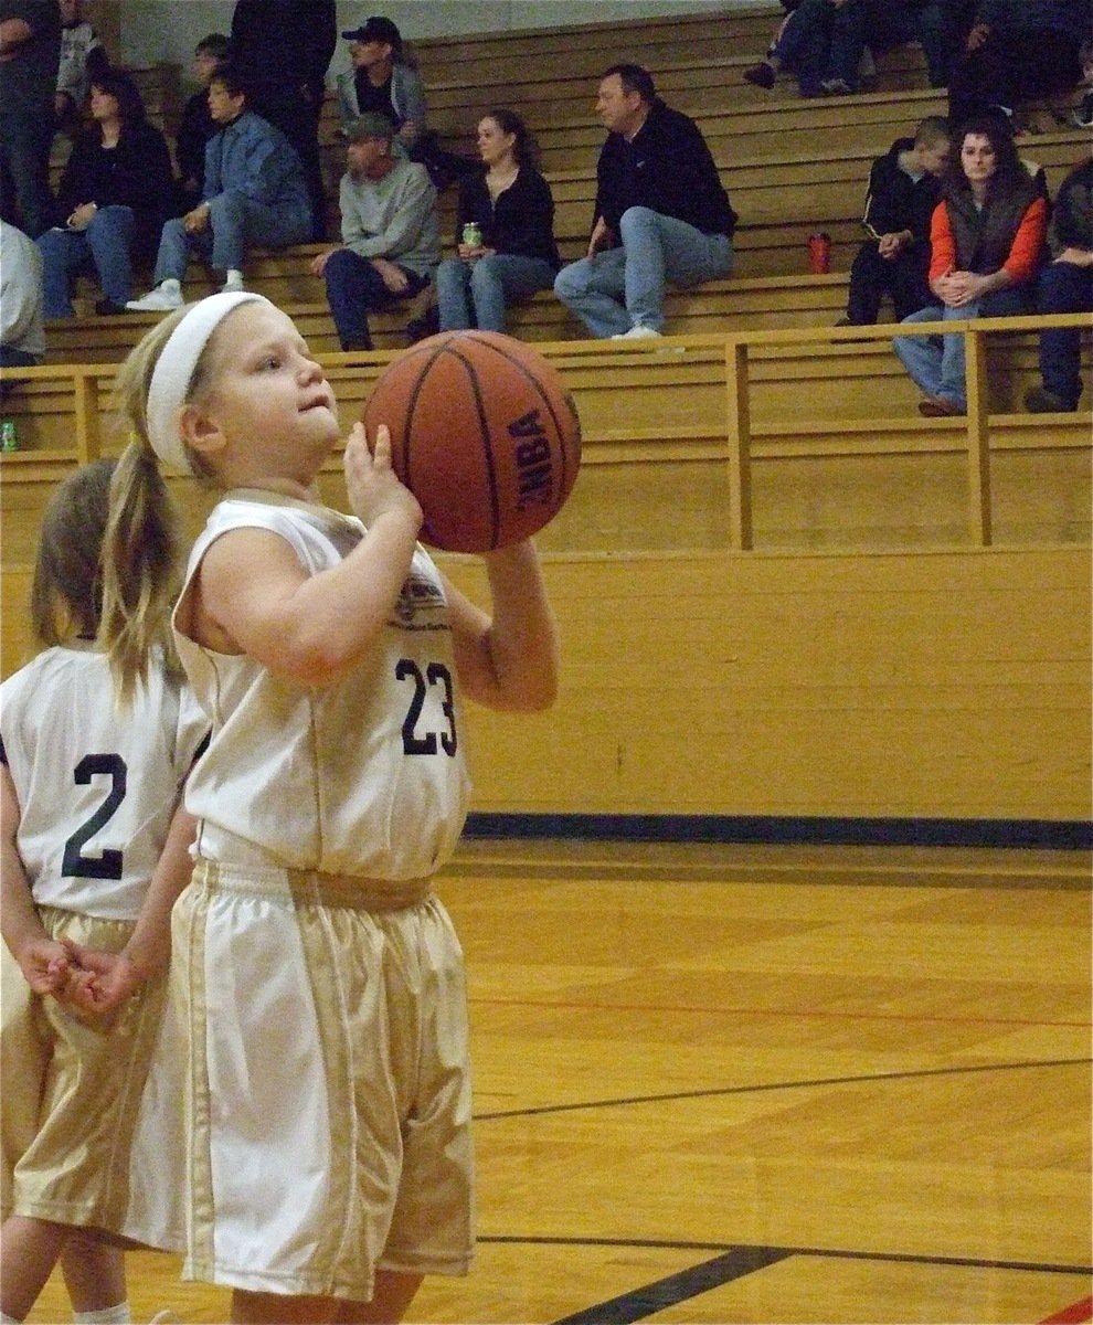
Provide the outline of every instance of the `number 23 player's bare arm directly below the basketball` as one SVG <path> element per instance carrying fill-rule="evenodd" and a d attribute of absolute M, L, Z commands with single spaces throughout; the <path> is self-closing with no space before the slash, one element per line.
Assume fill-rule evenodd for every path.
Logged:
<path fill-rule="evenodd" d="M 535 545 L 489 553 L 485 563 L 492 616 L 445 582 L 460 684 L 490 709 L 548 709 L 558 693 L 558 624 Z"/>

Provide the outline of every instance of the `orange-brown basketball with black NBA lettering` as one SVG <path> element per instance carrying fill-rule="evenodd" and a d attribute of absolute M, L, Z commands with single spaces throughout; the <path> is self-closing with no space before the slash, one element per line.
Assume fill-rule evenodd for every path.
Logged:
<path fill-rule="evenodd" d="M 395 473 L 425 515 L 421 541 L 489 553 L 538 533 L 580 465 L 580 421 L 554 367 L 497 331 L 441 331 L 380 374 L 368 444 L 391 429 Z"/>

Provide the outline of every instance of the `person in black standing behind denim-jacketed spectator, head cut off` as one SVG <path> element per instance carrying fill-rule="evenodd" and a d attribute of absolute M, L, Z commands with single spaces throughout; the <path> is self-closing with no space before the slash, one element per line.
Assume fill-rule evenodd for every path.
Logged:
<path fill-rule="evenodd" d="M 319 119 L 337 45 L 334 0 L 236 0 L 232 62 L 250 110 L 280 129 L 299 156 L 317 241 L 326 238 Z"/>

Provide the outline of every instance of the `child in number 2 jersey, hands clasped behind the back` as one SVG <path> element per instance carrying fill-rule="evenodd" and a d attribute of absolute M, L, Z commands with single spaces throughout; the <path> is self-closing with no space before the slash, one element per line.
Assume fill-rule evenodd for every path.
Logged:
<path fill-rule="evenodd" d="M 182 783 L 207 723 L 187 721 L 152 623 L 126 704 L 95 643 L 113 469 L 77 470 L 46 507 L 44 652 L 0 686 L 4 1320 L 26 1316 L 60 1259 L 77 1321 L 129 1321 L 119 1239 L 160 1242 L 135 1216 L 130 1170 L 156 1163 L 135 1137 L 191 872 Z M 154 504 L 148 555 L 170 547 L 163 515 Z M 180 1140 L 150 1136 L 154 1151 Z"/>

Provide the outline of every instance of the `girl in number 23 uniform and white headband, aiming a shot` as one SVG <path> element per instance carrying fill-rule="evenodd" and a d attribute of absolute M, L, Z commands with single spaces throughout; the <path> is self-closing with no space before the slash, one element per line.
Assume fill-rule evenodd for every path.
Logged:
<path fill-rule="evenodd" d="M 554 700 L 535 549 L 489 554 L 492 613 L 472 604 L 417 543 L 386 428 L 346 441 L 354 515 L 318 502 L 334 394 L 260 295 L 172 314 L 119 386 L 127 546 L 156 461 L 225 492 L 172 617 L 212 722 L 174 917 L 184 1273 L 238 1322 L 396 1321 L 473 1253 L 462 954 L 431 877 L 466 810 L 460 692 Z M 166 600 L 152 566 L 147 588 Z"/>

